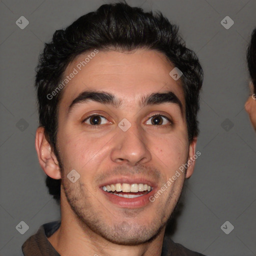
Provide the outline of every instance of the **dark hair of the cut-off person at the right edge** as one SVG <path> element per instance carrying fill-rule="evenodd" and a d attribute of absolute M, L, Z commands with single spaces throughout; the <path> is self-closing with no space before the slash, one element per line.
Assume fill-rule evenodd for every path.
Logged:
<path fill-rule="evenodd" d="M 256 93 L 256 28 L 251 33 L 250 43 L 247 48 L 247 64 L 254 93 Z"/>

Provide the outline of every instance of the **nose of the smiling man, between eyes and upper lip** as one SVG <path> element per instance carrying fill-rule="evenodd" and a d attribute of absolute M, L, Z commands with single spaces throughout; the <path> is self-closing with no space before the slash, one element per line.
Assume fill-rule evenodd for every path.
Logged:
<path fill-rule="evenodd" d="M 146 146 L 145 131 L 132 124 L 126 131 L 117 127 L 116 141 L 111 150 L 111 160 L 116 163 L 136 165 L 151 160 L 151 153 Z"/>

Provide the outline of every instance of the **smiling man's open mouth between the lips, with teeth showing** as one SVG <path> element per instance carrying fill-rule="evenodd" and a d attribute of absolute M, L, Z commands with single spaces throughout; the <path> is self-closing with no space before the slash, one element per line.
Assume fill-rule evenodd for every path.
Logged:
<path fill-rule="evenodd" d="M 101 187 L 102 190 L 125 198 L 135 198 L 149 193 L 153 187 L 142 183 L 116 183 Z"/>

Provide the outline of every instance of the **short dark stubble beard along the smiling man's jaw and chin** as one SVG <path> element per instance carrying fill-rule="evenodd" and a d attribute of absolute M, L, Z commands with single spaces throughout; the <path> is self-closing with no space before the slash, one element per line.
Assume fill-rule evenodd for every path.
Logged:
<path fill-rule="evenodd" d="M 166 206 L 162 203 L 161 207 L 158 207 L 160 210 L 157 210 L 158 212 L 156 212 L 155 218 L 146 225 L 132 222 L 132 219 L 136 217 L 142 209 L 138 209 L 137 212 L 134 209 L 124 209 L 124 220 L 108 224 L 104 220 L 104 214 L 106 214 L 106 212 L 107 214 L 111 214 L 111 212 L 104 206 L 102 206 L 101 209 L 93 207 L 89 199 L 93 194 L 85 188 L 79 179 L 75 183 L 71 183 L 64 175 L 64 167 L 59 155 L 57 155 L 57 158 L 61 171 L 61 187 L 64 191 L 64 196 L 85 233 L 92 231 L 109 242 L 132 246 L 151 242 L 165 229 L 165 225 L 171 217 L 171 213 L 179 200 L 180 194 L 168 216 L 166 216 L 166 212 L 164 212 Z M 88 191 L 88 196 L 85 195 L 85 190 Z M 171 198 L 172 195 L 169 194 L 168 201 L 170 201 Z M 146 212 L 146 210 L 144 210 L 144 212 Z M 113 219 L 115 219 L 114 216 Z M 88 228 L 90 230 L 88 230 Z"/>

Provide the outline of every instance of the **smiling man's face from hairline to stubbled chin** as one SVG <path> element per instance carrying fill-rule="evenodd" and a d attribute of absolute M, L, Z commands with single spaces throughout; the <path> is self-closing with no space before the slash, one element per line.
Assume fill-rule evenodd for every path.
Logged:
<path fill-rule="evenodd" d="M 181 193 L 185 173 L 149 201 L 191 151 L 183 90 L 180 79 L 169 75 L 174 66 L 157 51 L 99 51 L 79 70 L 77 64 L 89 53 L 79 55 L 65 70 L 65 75 L 74 68 L 78 73 L 65 86 L 59 105 L 61 203 L 67 202 L 64 211 L 72 209 L 86 228 L 107 240 L 138 244 L 162 230 Z M 84 95 L 74 100 L 88 90 L 111 93 L 115 103 L 121 103 L 115 107 L 96 97 L 81 100 Z M 141 106 L 142 97 L 166 92 L 172 92 L 167 101 L 155 97 L 157 104 Z M 67 178 L 73 169 L 80 175 L 74 183 Z M 103 190 L 108 185 L 119 190 L 121 185 L 136 191 L 141 184 L 153 190 Z"/>

